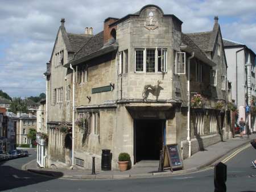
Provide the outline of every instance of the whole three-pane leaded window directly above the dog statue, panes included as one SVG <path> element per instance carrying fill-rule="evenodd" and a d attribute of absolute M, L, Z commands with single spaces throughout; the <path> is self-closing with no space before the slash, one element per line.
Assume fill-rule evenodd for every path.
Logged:
<path fill-rule="evenodd" d="M 135 49 L 135 72 L 167 72 L 167 49 Z"/>

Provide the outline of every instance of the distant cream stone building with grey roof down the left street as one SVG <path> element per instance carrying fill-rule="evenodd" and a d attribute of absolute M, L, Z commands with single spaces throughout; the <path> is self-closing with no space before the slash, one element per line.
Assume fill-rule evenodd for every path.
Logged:
<path fill-rule="evenodd" d="M 27 137 L 31 128 L 36 130 L 36 116 L 17 112 L 16 118 L 16 144 L 32 144 L 31 138 Z"/>

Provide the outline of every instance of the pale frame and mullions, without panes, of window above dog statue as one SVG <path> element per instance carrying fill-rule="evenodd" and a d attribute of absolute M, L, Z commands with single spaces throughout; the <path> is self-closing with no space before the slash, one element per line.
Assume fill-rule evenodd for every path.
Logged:
<path fill-rule="evenodd" d="M 147 57 L 147 49 L 155 49 L 155 72 L 146 72 L 147 70 L 147 66 L 146 66 L 146 57 Z M 167 66 L 168 66 L 168 61 L 167 59 L 164 59 L 165 63 L 163 64 L 164 65 L 164 71 L 162 72 L 159 72 L 159 69 L 158 69 L 158 50 L 166 50 L 166 58 L 168 58 L 168 51 L 167 51 L 167 48 L 160 48 L 160 47 L 148 47 L 148 48 L 135 48 L 134 49 L 134 73 L 167 73 Z M 136 60 L 137 60 L 137 51 L 143 51 L 143 70 L 142 71 L 138 71 L 136 70 Z M 160 69 L 162 70 L 162 69 Z"/>

